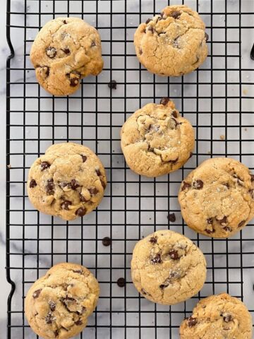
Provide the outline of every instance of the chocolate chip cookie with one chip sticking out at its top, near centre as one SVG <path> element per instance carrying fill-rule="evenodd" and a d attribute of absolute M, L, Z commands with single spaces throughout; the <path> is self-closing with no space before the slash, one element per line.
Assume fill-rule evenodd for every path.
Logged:
<path fill-rule="evenodd" d="M 146 177 L 182 167 L 192 155 L 194 141 L 190 122 L 180 117 L 167 97 L 160 105 L 138 109 L 121 129 L 121 148 L 128 166 Z"/>

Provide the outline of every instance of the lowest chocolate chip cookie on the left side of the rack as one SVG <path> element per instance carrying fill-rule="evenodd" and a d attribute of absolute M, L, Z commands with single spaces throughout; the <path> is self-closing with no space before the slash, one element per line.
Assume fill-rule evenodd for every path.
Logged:
<path fill-rule="evenodd" d="M 99 284 L 90 270 L 75 263 L 59 263 L 30 287 L 25 316 L 42 338 L 71 338 L 87 326 L 98 298 Z"/>

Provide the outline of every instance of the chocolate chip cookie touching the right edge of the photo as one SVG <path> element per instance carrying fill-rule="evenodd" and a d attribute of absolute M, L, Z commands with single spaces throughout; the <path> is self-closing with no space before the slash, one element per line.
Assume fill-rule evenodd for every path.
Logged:
<path fill-rule="evenodd" d="M 208 237 L 230 237 L 254 216 L 254 175 L 229 157 L 205 160 L 183 180 L 179 203 L 193 230 Z"/>

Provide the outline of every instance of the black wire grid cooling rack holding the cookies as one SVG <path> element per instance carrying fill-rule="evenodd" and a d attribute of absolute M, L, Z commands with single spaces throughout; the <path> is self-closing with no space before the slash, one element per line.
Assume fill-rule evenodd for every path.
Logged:
<path fill-rule="evenodd" d="M 230 239 L 210 239 L 184 225 L 177 203 L 181 180 L 208 157 L 234 157 L 250 169 L 254 167 L 254 74 L 250 59 L 254 5 L 252 0 L 183 2 L 199 11 L 206 23 L 209 56 L 200 69 L 187 76 L 160 78 L 140 66 L 133 33 L 140 22 L 159 13 L 168 1 L 7 1 L 11 48 L 6 129 L 6 267 L 11 283 L 8 338 L 36 338 L 25 320 L 25 294 L 34 280 L 61 261 L 87 266 L 101 287 L 97 310 L 85 334 L 78 338 L 179 338 L 179 324 L 198 299 L 218 292 L 243 299 L 254 312 L 253 223 Z M 84 18 L 102 37 L 103 72 L 96 78 L 85 78 L 71 97 L 52 97 L 44 92 L 29 60 L 39 28 L 57 16 Z M 112 80 L 116 89 L 108 87 Z M 119 131 L 136 109 L 164 96 L 171 97 L 193 124 L 195 153 L 169 176 L 139 177 L 126 167 Z M 38 213 L 25 189 L 32 162 L 49 145 L 63 141 L 92 148 L 104 163 L 109 182 L 97 210 L 72 222 Z M 175 213 L 175 222 L 170 221 L 169 213 Z M 193 239 L 208 266 L 200 293 L 172 307 L 140 297 L 130 275 L 135 242 L 167 228 Z M 111 238 L 111 246 L 103 246 L 104 237 Z M 116 283 L 119 278 L 126 280 L 123 287 Z"/>

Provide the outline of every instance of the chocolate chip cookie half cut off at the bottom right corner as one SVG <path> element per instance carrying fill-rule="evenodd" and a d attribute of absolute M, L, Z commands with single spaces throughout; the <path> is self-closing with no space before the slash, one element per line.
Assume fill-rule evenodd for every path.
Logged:
<path fill-rule="evenodd" d="M 251 339 L 252 321 L 246 306 L 226 293 L 202 299 L 180 326 L 181 339 Z"/>

